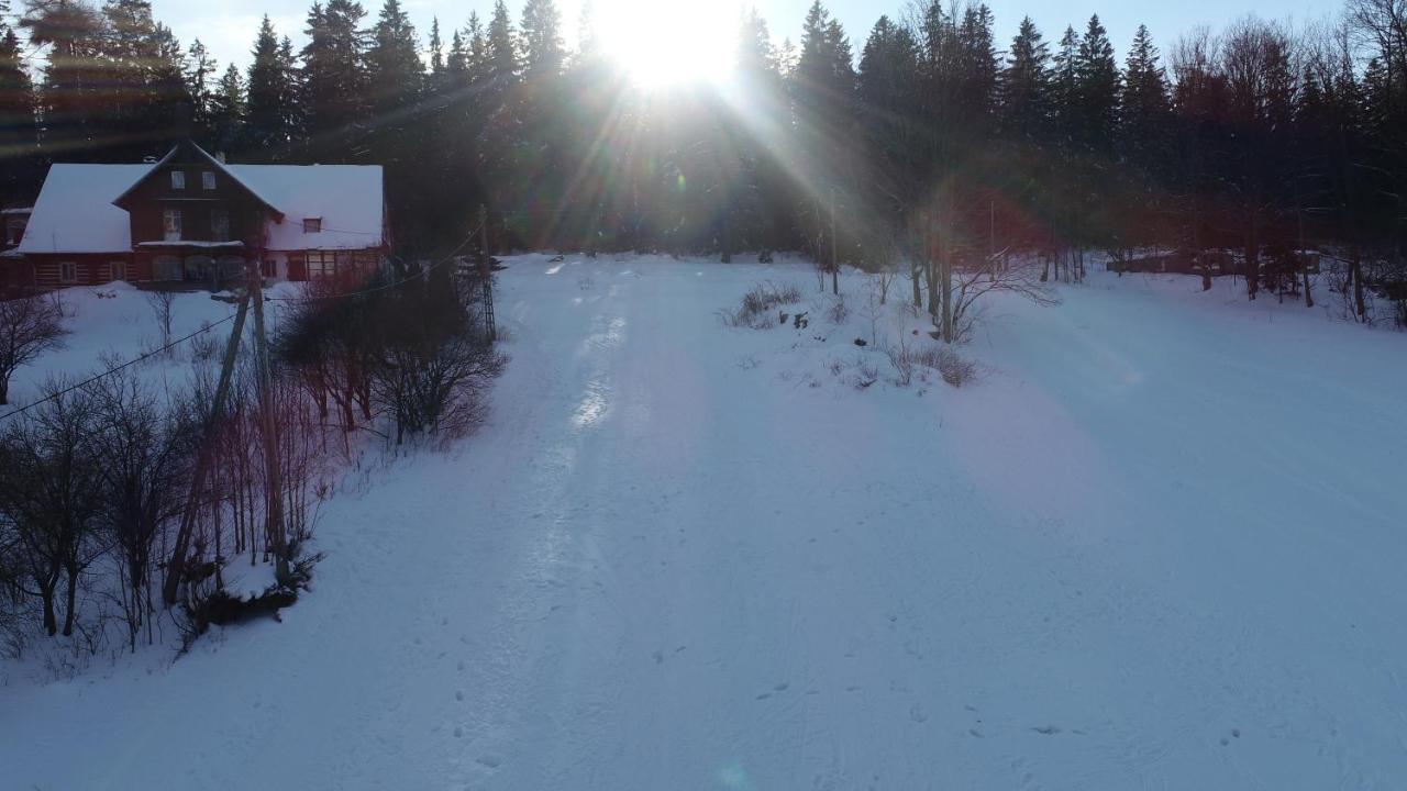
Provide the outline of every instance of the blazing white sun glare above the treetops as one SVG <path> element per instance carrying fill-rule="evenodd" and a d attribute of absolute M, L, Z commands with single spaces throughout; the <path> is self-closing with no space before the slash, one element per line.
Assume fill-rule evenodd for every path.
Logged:
<path fill-rule="evenodd" d="M 736 14 L 720 0 L 606 0 L 597 31 L 642 87 L 718 83 L 733 68 Z"/>

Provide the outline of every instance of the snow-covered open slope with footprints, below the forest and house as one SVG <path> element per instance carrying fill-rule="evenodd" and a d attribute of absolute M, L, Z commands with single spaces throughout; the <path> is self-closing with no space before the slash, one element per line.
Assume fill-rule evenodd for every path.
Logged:
<path fill-rule="evenodd" d="M 491 424 L 333 498 L 283 624 L 0 663 L 0 787 L 1407 785 L 1407 335 L 1097 273 L 898 387 L 858 274 L 508 265 Z M 764 280 L 808 329 L 720 322 Z"/>

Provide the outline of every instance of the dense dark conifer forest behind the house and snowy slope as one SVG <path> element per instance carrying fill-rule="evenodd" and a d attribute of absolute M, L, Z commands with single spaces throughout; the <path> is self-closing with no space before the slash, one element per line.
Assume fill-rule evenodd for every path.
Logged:
<path fill-rule="evenodd" d="M 1210 277 L 1299 291 L 1318 248 L 1359 317 L 1403 300 L 1407 4 L 1346 0 L 1304 30 L 1244 18 L 1119 55 L 1097 17 L 1005 46 L 982 4 L 920 0 L 854 51 L 817 0 L 774 46 L 746 14 L 725 86 L 637 90 L 591 20 L 498 0 L 422 44 L 400 0 L 314 3 L 295 51 L 266 18 L 246 70 L 182 48 L 145 0 L 27 0 L 0 45 L 6 198 L 52 159 L 131 160 L 193 135 L 242 160 L 380 162 L 398 243 L 805 249 L 909 262 L 934 315 L 955 272 L 1040 252 L 1180 251 Z M 34 51 L 38 52 L 38 51 Z M 725 52 L 720 58 L 729 56 Z M 30 66 L 28 69 L 25 66 Z M 38 79 L 31 82 L 31 75 Z M 1307 286 L 1307 280 L 1304 280 Z"/>

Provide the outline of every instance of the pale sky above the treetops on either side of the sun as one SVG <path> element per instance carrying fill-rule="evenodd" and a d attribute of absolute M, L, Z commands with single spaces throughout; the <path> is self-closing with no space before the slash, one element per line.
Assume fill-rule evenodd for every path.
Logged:
<path fill-rule="evenodd" d="M 559 0 L 563 11 L 563 23 L 568 41 L 575 37 L 577 18 L 582 0 Z M 666 15 L 675 15 L 681 8 L 688 8 L 684 18 L 696 17 L 701 8 L 715 14 L 719 21 L 736 18 L 739 7 L 744 3 L 733 0 L 594 0 L 597 15 L 605 15 L 609 7 L 644 7 Z M 756 6 L 767 20 L 772 35 L 781 39 L 791 37 L 794 41 L 801 35 L 801 23 L 806 15 L 810 0 L 754 0 L 746 3 Z M 858 55 L 865 35 L 881 13 L 893 17 L 900 15 L 900 10 L 909 0 L 832 0 L 827 7 L 840 18 L 850 34 L 850 39 Z M 183 44 L 200 38 L 205 42 L 221 65 L 231 61 L 245 65 L 249 61 L 249 49 L 253 45 L 255 32 L 259 30 L 259 18 L 267 13 L 279 34 L 288 34 L 295 44 L 301 44 L 303 24 L 311 0 L 221 0 L 193 1 L 193 0 L 152 0 L 156 17 L 169 24 Z M 381 0 L 362 0 L 367 8 L 367 18 L 374 20 L 376 11 L 381 7 Z M 485 18 L 492 11 L 492 0 L 402 0 L 402 6 L 411 14 L 416 30 L 422 37 L 429 35 L 431 18 L 439 17 L 445 38 L 449 31 L 460 27 L 469 18 L 471 10 L 478 10 Z M 509 0 L 514 21 L 519 18 L 521 0 Z M 1016 25 L 1021 15 L 1030 14 L 1036 24 L 1045 34 L 1047 39 L 1058 39 L 1067 24 L 1082 30 L 1090 13 L 1099 11 L 1104 27 L 1109 28 L 1114 39 L 1116 49 L 1123 58 L 1140 23 L 1152 30 L 1161 46 L 1166 45 L 1182 31 L 1197 24 L 1211 24 L 1213 27 L 1248 13 L 1255 13 L 1271 18 L 1293 18 L 1294 21 L 1320 20 L 1338 14 L 1342 8 L 1341 0 L 1178 0 L 1175 3 L 1135 3 L 1130 0 L 988 0 L 988 6 L 996 14 L 996 31 L 1000 46 L 1005 48 L 1016 32 Z M 673 8 L 673 11 L 671 11 Z M 680 31 L 681 39 L 695 39 L 692 30 Z M 651 46 L 668 46 L 670 34 L 661 34 Z"/>

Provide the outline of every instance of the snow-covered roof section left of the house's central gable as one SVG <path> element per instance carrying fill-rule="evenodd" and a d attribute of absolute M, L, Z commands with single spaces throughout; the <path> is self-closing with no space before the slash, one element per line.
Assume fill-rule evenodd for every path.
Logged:
<path fill-rule="evenodd" d="M 55 165 L 49 167 L 21 253 L 113 253 L 132 249 L 127 213 L 113 205 L 151 165 Z"/>

